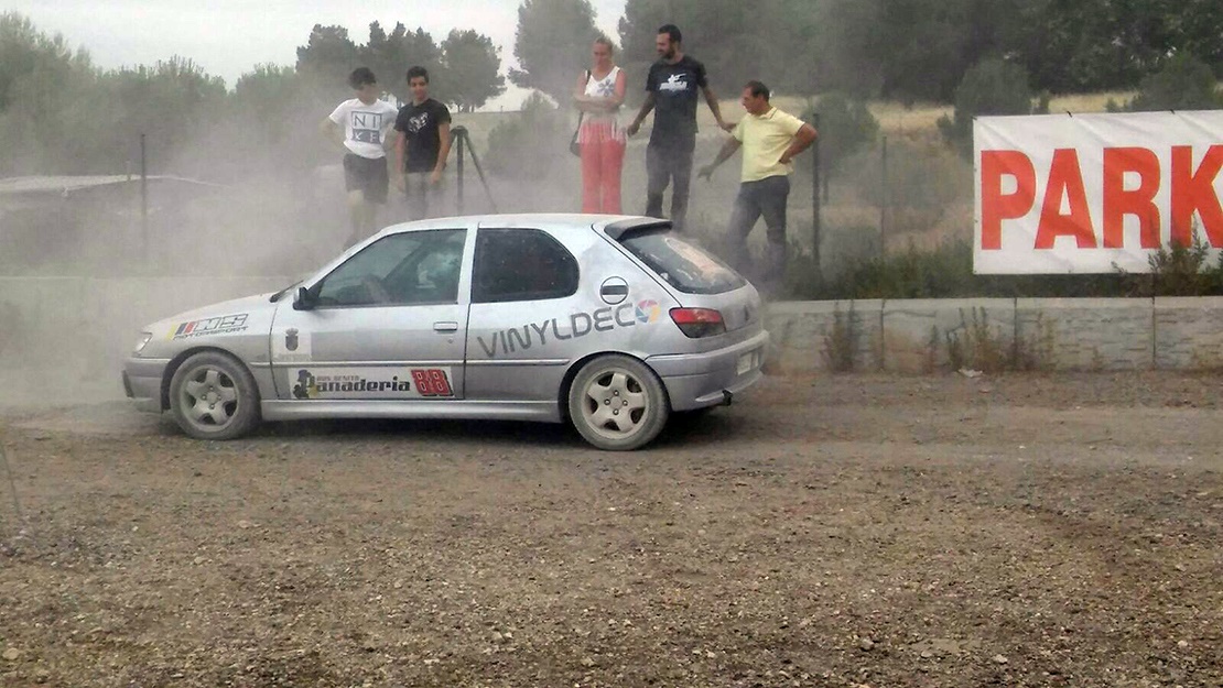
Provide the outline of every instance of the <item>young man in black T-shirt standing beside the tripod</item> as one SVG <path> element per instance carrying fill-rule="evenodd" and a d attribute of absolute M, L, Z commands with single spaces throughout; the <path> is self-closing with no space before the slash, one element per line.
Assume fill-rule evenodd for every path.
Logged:
<path fill-rule="evenodd" d="M 412 101 L 395 119 L 395 186 L 407 197 L 407 218 L 429 216 L 429 197 L 442 185 L 442 171 L 450 155 L 450 110 L 429 98 L 429 72 L 407 70 Z"/>

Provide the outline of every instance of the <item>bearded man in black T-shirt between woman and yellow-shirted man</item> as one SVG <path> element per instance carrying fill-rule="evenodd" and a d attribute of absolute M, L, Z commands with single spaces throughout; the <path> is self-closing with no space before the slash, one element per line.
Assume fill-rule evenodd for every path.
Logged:
<path fill-rule="evenodd" d="M 718 126 L 726 131 L 734 128 L 722 119 L 718 97 L 706 79 L 704 65 L 684 54 L 681 38 L 675 24 L 659 27 L 654 42 L 659 60 L 649 67 L 646 78 L 646 103 L 627 128 L 629 136 L 636 136 L 646 115 L 654 110 L 654 131 L 646 148 L 646 215 L 662 218 L 663 192 L 674 181 L 671 222 L 678 230 L 682 229 L 687 214 L 689 182 L 692 180 L 697 89 L 704 94 Z"/>

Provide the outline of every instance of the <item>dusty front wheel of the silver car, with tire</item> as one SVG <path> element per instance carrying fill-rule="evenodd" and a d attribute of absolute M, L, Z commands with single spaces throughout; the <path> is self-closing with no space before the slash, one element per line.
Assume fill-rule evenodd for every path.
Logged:
<path fill-rule="evenodd" d="M 232 356 L 192 356 L 170 379 L 170 411 L 182 431 L 201 440 L 232 440 L 260 420 L 254 378 Z"/>

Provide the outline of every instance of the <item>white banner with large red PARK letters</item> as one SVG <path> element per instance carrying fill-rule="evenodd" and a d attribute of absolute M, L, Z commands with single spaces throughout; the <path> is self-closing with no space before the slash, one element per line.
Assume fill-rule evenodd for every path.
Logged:
<path fill-rule="evenodd" d="M 1223 248 L 1223 110 L 977 117 L 977 274 L 1150 273 Z"/>

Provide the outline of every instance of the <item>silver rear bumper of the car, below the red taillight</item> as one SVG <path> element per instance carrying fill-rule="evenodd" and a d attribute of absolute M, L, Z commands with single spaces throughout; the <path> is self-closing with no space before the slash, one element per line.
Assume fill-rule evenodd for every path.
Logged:
<path fill-rule="evenodd" d="M 762 331 L 718 351 L 652 356 L 646 363 L 662 378 L 671 409 L 692 411 L 729 403 L 730 396 L 758 382 L 768 341 L 768 332 Z"/>

